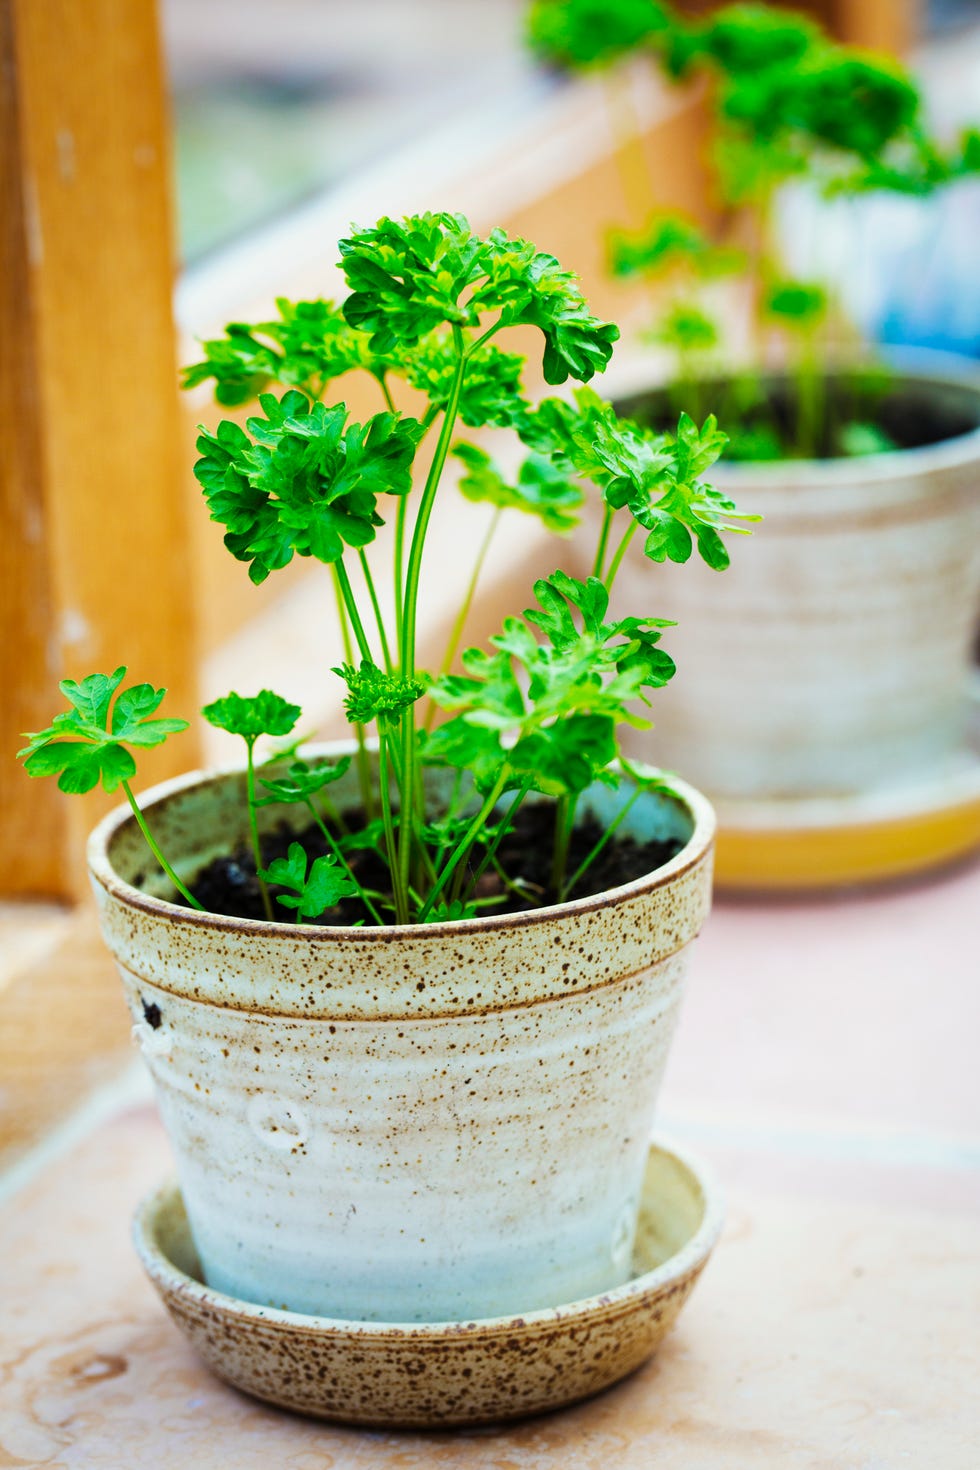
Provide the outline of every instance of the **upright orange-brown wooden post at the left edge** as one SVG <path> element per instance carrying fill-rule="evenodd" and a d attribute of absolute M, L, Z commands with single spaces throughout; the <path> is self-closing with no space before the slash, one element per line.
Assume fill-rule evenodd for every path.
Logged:
<path fill-rule="evenodd" d="M 0 895 L 71 898 L 112 798 L 28 781 L 19 732 L 119 663 L 195 709 L 156 6 L 0 0 Z"/>

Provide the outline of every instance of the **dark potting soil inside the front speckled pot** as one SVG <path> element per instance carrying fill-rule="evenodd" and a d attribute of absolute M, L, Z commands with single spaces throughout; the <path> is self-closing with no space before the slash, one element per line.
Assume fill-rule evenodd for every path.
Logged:
<path fill-rule="evenodd" d="M 351 816 L 351 829 L 357 829 L 357 817 Z M 554 832 L 554 807 L 548 803 L 529 804 L 517 813 L 513 831 L 500 845 L 500 866 L 511 882 L 522 879 L 526 897 L 510 892 L 497 873 L 491 869 L 479 881 L 476 897 L 480 900 L 502 895 L 497 904 L 482 906 L 478 910 L 480 917 L 492 914 L 526 913 L 542 904 L 555 903 L 555 895 L 550 886 L 550 867 Z M 569 848 L 569 873 L 574 873 L 585 857 L 592 851 L 602 828 L 595 817 L 586 817 L 572 833 Z M 300 842 L 310 860 L 320 857 L 326 851 L 326 842 L 316 826 L 304 832 L 289 832 L 285 826 L 278 832 L 269 832 L 262 839 L 262 857 L 267 866 L 276 857 L 285 857 L 291 842 Z M 635 838 L 617 832 L 602 848 L 595 863 L 589 867 L 567 898 L 588 898 L 591 894 L 605 892 L 608 888 L 619 888 L 630 883 L 645 873 L 654 872 L 680 851 L 682 842 L 638 842 Z M 480 848 L 476 850 L 475 863 L 479 863 Z M 353 851 L 347 860 L 363 888 L 385 892 L 388 888 L 388 870 L 373 851 Z M 264 919 L 262 907 L 262 892 L 256 878 L 256 864 L 248 847 L 239 847 L 228 857 L 213 858 L 204 867 L 191 889 L 198 903 L 209 913 L 228 914 L 235 919 Z M 275 895 L 285 889 L 270 885 L 275 917 L 279 923 L 289 923 L 292 911 L 275 903 Z M 329 908 L 313 923 L 317 925 L 354 925 L 359 920 L 373 923 L 359 898 L 345 898 L 335 908 Z"/>

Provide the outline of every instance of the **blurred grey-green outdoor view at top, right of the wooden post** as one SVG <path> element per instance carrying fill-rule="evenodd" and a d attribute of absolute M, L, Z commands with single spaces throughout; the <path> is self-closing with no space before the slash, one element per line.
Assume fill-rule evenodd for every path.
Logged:
<path fill-rule="evenodd" d="M 523 0 L 163 0 L 185 266 L 386 150 L 560 85 Z"/>

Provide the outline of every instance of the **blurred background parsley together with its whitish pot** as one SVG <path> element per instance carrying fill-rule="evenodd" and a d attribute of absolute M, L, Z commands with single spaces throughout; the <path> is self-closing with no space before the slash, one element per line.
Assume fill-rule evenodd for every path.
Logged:
<path fill-rule="evenodd" d="M 798 181 L 927 194 L 976 172 L 979 135 L 940 148 L 901 66 L 788 10 L 736 4 L 692 21 L 652 0 L 538 0 L 529 15 L 551 59 L 602 66 L 645 51 L 671 78 L 704 75 L 711 97 L 714 234 L 660 212 L 611 241 L 613 270 L 658 288 L 651 335 L 676 365 L 664 390 L 636 362 L 617 406 L 657 425 L 679 397 L 695 415 L 710 398 L 730 432 L 717 482 L 751 498 L 765 535 L 724 581 L 664 581 L 686 678 L 644 748 L 683 760 L 713 797 L 748 803 L 742 817 L 764 842 L 789 820 L 788 798 L 854 797 L 857 814 L 868 795 L 889 820 L 909 801 L 967 800 L 965 826 L 923 829 L 905 866 L 951 856 L 980 832 L 980 784 L 968 798 L 959 779 L 980 604 L 980 390 L 942 360 L 868 365 L 827 287 L 789 272 L 776 223 L 780 191 Z M 748 343 L 723 351 L 723 322 L 742 326 L 745 307 Z M 629 557 L 619 595 L 635 606 L 644 585 Z M 817 826 L 845 811 L 808 810 Z M 824 863 L 820 881 L 895 870 L 880 844 L 868 861 L 864 875 Z M 780 863 L 765 858 L 763 876 L 807 879 L 805 858 Z M 724 876 L 754 873 L 726 861 Z"/>

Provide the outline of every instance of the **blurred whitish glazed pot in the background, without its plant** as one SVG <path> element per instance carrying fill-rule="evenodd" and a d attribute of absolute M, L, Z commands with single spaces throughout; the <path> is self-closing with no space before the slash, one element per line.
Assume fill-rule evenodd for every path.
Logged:
<path fill-rule="evenodd" d="M 961 375 L 904 388 L 980 425 Z M 630 413 L 630 398 L 617 403 Z M 724 428 L 724 425 L 721 425 Z M 964 744 L 980 614 L 980 428 L 867 459 L 721 465 L 763 522 L 713 572 L 654 566 L 639 538 L 614 606 L 677 620 L 683 678 L 632 753 L 713 797 L 864 792 L 942 772 Z"/>

